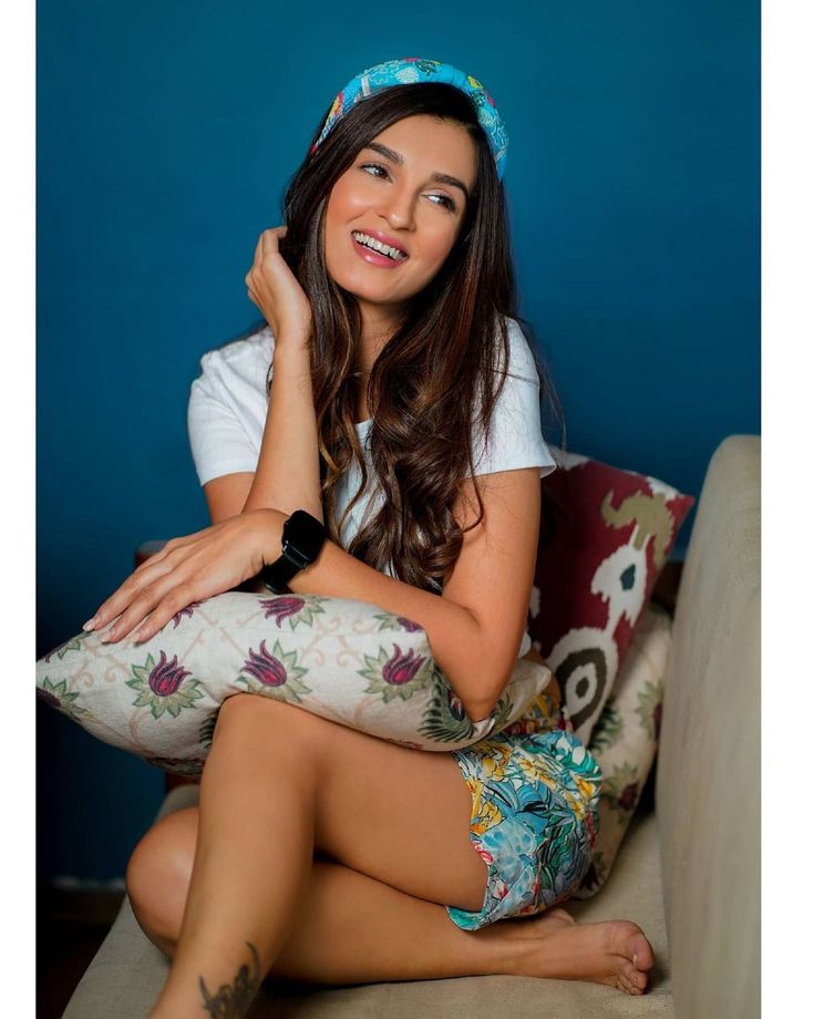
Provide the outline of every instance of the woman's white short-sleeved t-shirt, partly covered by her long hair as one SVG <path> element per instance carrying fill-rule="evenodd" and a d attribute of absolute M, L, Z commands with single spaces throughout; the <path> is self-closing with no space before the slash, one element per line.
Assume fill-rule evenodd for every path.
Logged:
<path fill-rule="evenodd" d="M 488 444 L 473 432 L 474 473 L 540 469 L 540 477 L 556 463 L 543 440 L 539 416 L 539 380 L 534 358 L 521 327 L 508 320 L 509 373 L 495 406 Z M 200 359 L 202 373 L 193 382 L 187 424 L 195 470 L 202 485 L 224 474 L 254 473 L 260 455 L 268 412 L 266 378 L 274 361 L 274 336 L 268 326 L 246 339 L 235 340 Z M 368 487 L 349 513 L 341 533 L 348 548 L 362 525 L 365 513 L 375 515 L 383 498 L 370 460 L 367 438 L 370 421 L 357 424 L 357 433 L 368 467 Z M 341 519 L 361 484 L 356 460 L 337 486 L 337 519 Z M 392 576 L 392 570 L 385 570 Z M 518 651 L 523 657 L 532 646 L 524 634 Z"/>

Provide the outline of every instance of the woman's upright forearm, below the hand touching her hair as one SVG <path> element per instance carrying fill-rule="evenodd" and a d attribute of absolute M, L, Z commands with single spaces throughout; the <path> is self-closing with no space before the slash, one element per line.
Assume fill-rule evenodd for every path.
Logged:
<path fill-rule="evenodd" d="M 244 512 L 264 508 L 307 510 L 322 519 L 310 356 L 299 338 L 275 342 L 266 426 Z"/>

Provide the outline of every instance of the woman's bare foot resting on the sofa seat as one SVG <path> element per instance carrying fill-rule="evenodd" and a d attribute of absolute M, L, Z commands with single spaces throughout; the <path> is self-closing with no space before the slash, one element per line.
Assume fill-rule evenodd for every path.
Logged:
<path fill-rule="evenodd" d="M 593 980 L 627 995 L 645 994 L 653 951 L 630 920 L 577 924 L 565 909 L 548 909 L 512 926 L 526 945 L 517 969 L 521 976 Z"/>

